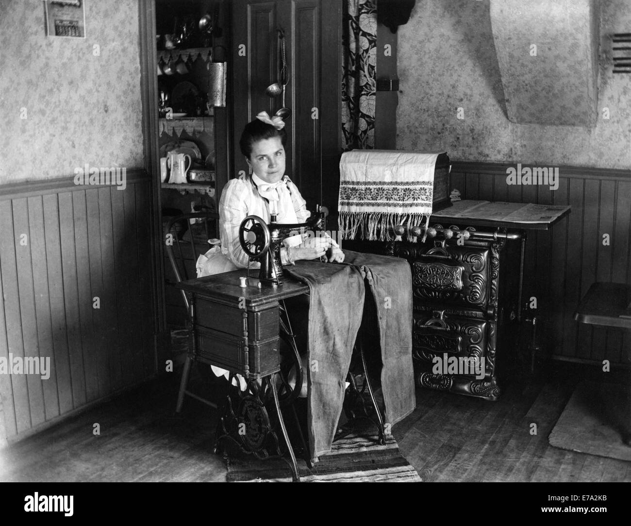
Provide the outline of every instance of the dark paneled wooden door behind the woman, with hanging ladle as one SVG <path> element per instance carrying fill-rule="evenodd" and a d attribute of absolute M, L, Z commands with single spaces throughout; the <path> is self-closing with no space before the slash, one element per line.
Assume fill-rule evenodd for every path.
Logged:
<path fill-rule="evenodd" d="M 239 151 L 245 124 L 260 111 L 280 109 L 266 88 L 277 77 L 277 28 L 285 33 L 289 82 L 285 105 L 286 174 L 309 210 L 337 204 L 341 6 L 338 0 L 236 0 L 233 3 L 233 102 L 235 174 L 248 173 Z M 324 174 L 324 176 L 323 176 Z"/>

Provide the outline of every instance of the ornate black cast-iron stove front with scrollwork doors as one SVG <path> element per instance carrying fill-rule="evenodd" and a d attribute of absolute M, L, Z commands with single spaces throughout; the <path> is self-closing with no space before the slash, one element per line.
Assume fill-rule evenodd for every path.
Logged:
<path fill-rule="evenodd" d="M 456 230 L 457 233 L 457 230 Z M 418 385 L 495 400 L 499 260 L 504 239 L 391 244 L 410 262 L 413 283 L 413 357 Z"/>

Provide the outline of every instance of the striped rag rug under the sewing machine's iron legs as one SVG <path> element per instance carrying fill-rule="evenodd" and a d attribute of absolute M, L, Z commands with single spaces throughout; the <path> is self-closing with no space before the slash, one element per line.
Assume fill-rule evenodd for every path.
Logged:
<path fill-rule="evenodd" d="M 313 469 L 298 458 L 301 482 L 422 482 L 401 455 L 392 436 L 379 445 L 376 435 L 351 433 L 334 441 Z M 230 458 L 228 482 L 291 482 L 288 463 L 278 458 Z"/>

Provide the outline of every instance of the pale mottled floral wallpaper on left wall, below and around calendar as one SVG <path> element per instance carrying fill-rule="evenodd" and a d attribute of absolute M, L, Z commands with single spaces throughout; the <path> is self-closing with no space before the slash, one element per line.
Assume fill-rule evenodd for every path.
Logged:
<path fill-rule="evenodd" d="M 138 1 L 84 1 L 79 39 L 46 36 L 42 0 L 0 0 L 0 184 L 143 166 Z"/>

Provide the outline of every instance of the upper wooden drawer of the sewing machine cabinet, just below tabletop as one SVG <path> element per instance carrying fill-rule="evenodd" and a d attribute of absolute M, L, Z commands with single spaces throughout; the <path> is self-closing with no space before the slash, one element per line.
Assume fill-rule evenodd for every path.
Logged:
<path fill-rule="evenodd" d="M 243 310 L 198 297 L 195 302 L 197 325 L 241 337 Z M 262 311 L 248 311 L 247 332 L 250 340 L 278 337 L 278 305 Z"/>

